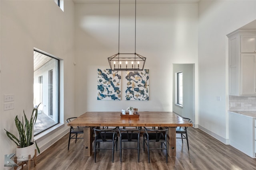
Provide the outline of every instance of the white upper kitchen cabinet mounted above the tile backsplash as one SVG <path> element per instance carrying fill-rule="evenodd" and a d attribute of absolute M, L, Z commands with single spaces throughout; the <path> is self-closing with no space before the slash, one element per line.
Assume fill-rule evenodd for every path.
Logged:
<path fill-rule="evenodd" d="M 256 95 L 256 30 L 230 33 L 229 95 Z"/>

